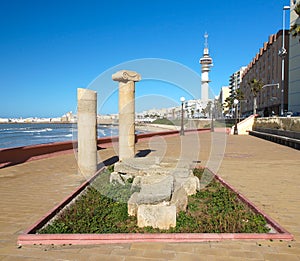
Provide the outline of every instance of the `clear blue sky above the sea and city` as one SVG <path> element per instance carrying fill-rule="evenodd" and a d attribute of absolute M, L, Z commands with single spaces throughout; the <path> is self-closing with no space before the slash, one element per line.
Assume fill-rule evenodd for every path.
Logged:
<path fill-rule="evenodd" d="M 288 4 L 288 0 L 1 0 L 0 117 L 55 117 L 76 111 L 78 87 L 98 91 L 99 113 L 116 113 L 117 83 L 101 84 L 102 77 L 118 68 L 144 72 L 130 62 L 144 58 L 168 60 L 178 70 L 189 68 L 192 78 L 199 76 L 206 31 L 214 60 L 210 86 L 217 95 L 221 86 L 228 85 L 229 76 L 281 29 L 282 7 Z M 149 70 L 151 65 L 147 66 Z M 163 66 L 153 70 L 167 71 Z M 175 71 L 176 76 L 181 77 Z M 176 105 L 181 96 L 200 98 L 200 82 L 199 89 L 189 83 L 178 86 L 154 75 L 136 85 L 137 111 Z"/>

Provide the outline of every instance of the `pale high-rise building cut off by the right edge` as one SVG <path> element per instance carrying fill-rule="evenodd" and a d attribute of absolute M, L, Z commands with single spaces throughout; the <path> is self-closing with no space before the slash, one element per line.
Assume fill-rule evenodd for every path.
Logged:
<path fill-rule="evenodd" d="M 296 13 L 296 5 L 300 0 L 291 0 L 290 27 L 300 26 L 300 17 Z M 300 34 L 290 34 L 289 52 L 289 93 L 288 110 L 295 113 L 300 112 Z"/>

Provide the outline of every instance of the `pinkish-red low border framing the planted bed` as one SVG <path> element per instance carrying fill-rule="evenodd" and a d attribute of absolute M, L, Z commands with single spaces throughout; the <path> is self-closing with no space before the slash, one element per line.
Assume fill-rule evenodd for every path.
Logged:
<path fill-rule="evenodd" d="M 54 217 L 63 207 L 69 204 L 81 191 L 83 191 L 103 170 L 99 170 L 92 178 L 78 187 L 70 196 L 65 198 L 59 205 L 50 210 L 34 225 L 18 236 L 19 245 L 34 244 L 72 244 L 72 245 L 90 245 L 90 244 L 115 244 L 115 243 L 134 243 L 134 242 L 207 242 L 222 240 L 268 240 L 281 239 L 292 240 L 294 237 L 276 221 L 270 218 L 266 213 L 257 208 L 251 201 L 245 198 L 241 193 L 225 182 L 217 174 L 215 178 L 224 186 L 232 190 L 237 196 L 246 203 L 253 211 L 263 215 L 268 224 L 271 225 L 277 233 L 153 233 L 153 234 L 35 234 L 36 231 L 45 225 L 52 217 Z"/>

